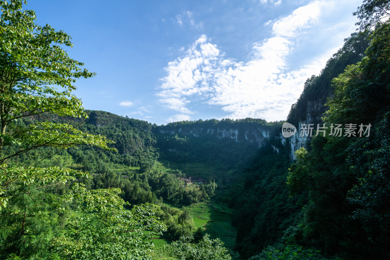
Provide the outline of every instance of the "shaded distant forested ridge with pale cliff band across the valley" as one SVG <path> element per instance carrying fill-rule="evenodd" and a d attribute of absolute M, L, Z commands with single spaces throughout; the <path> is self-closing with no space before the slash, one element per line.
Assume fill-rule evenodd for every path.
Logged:
<path fill-rule="evenodd" d="M 247 165 L 269 140 L 277 140 L 279 146 L 284 141 L 280 127 L 280 122 L 259 119 L 214 119 L 156 126 L 154 133 L 161 158 L 207 162 L 228 170 Z"/>

